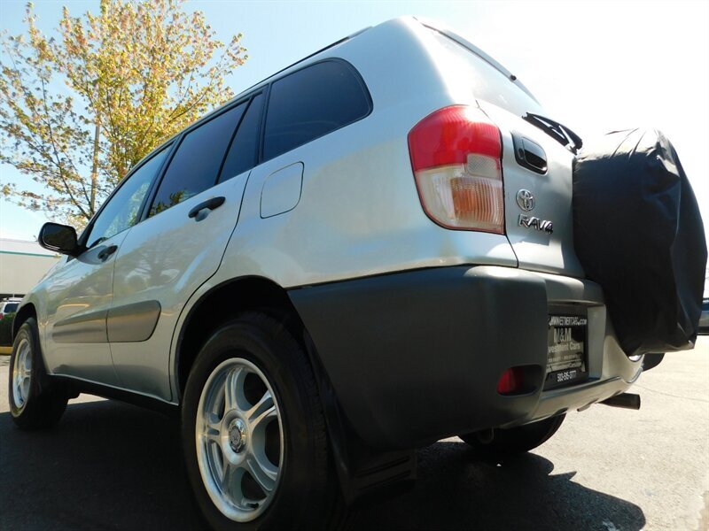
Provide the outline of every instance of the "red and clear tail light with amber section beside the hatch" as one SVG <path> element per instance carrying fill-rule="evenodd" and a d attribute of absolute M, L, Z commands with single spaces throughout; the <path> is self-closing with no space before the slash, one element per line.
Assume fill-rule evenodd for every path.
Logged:
<path fill-rule="evenodd" d="M 418 196 L 441 227 L 504 234 L 500 130 L 477 108 L 445 107 L 409 133 Z"/>

